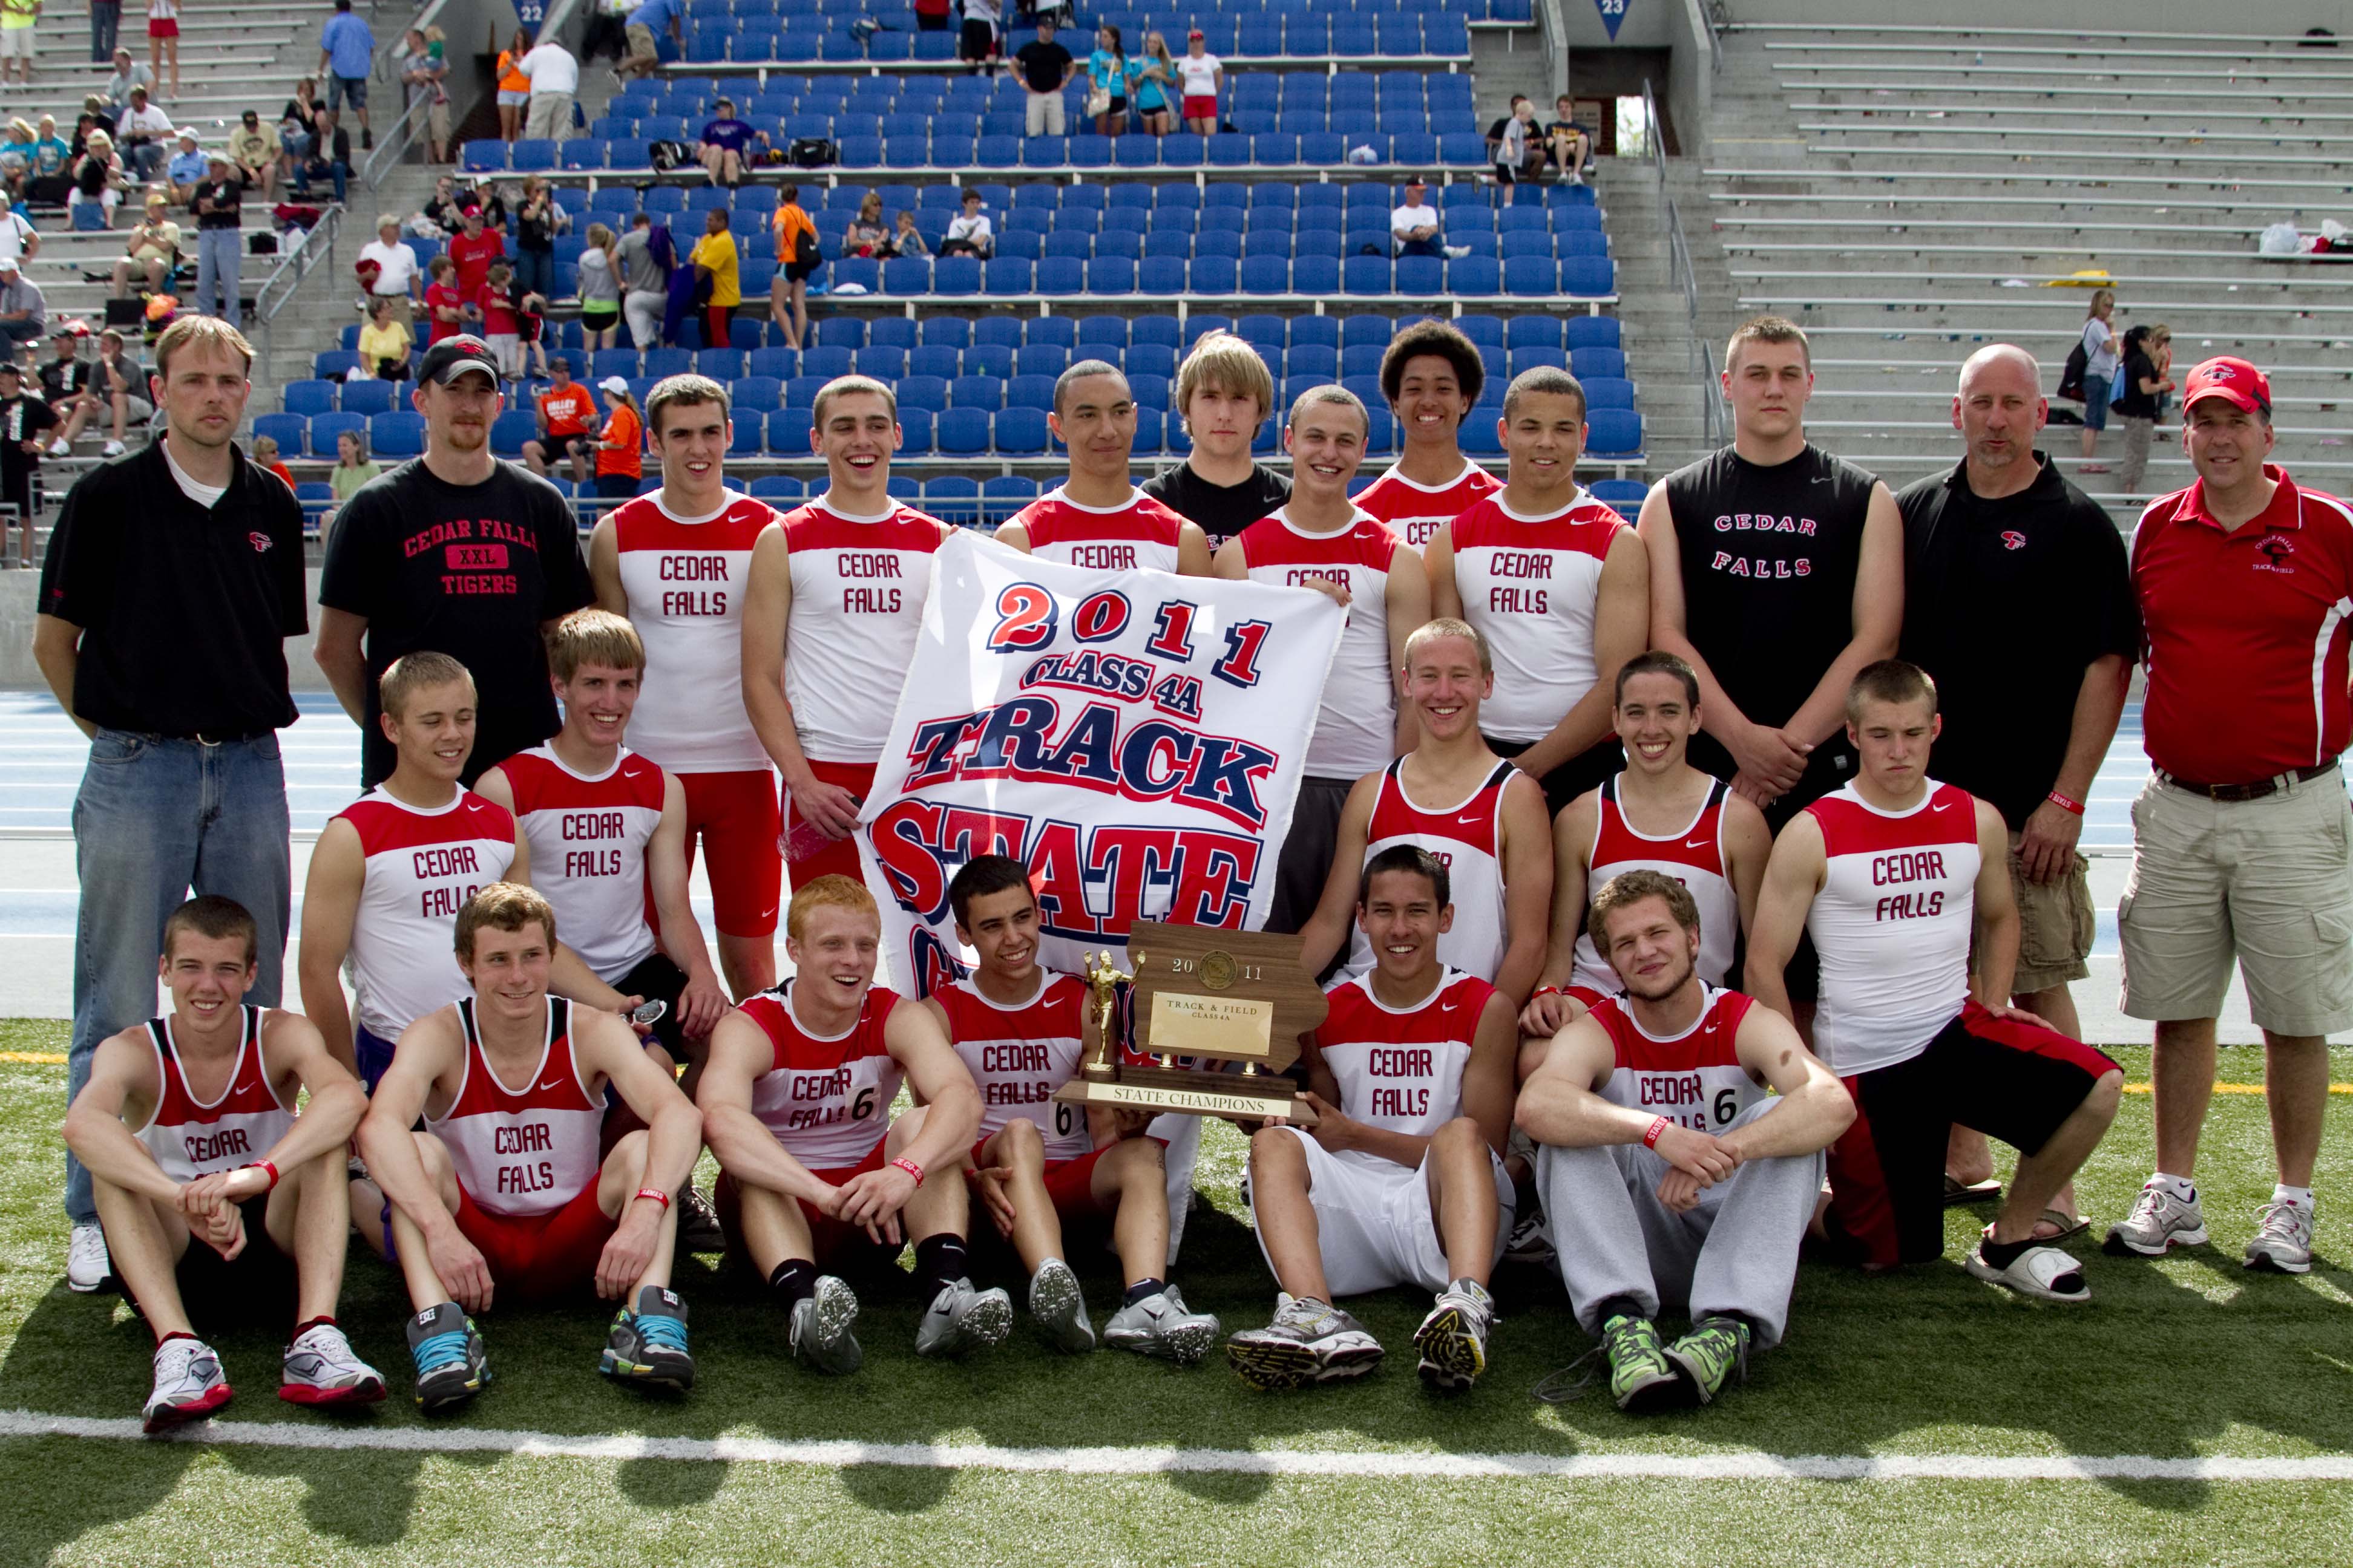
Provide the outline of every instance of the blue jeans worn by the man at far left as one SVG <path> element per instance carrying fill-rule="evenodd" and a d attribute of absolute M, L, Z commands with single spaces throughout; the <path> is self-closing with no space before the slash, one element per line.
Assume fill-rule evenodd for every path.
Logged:
<path fill-rule="evenodd" d="M 202 745 L 101 729 L 73 797 L 73 858 L 82 910 L 68 1105 L 89 1081 L 99 1041 L 155 1016 L 162 922 L 188 889 L 235 898 L 254 917 L 256 971 L 245 999 L 278 1006 L 294 872 L 275 733 Z M 89 1171 L 71 1154 L 66 1213 L 75 1225 L 99 1218 Z"/>

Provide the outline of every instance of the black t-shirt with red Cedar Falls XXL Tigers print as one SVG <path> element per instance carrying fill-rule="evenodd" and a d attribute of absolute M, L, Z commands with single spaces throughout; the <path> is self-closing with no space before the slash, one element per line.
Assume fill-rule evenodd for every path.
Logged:
<path fill-rule="evenodd" d="M 572 508 L 546 480 L 499 463 L 447 484 L 412 458 L 362 484 L 336 515 L 318 602 L 367 621 L 362 788 L 393 771 L 376 682 L 433 649 L 473 672 L 478 719 L 464 783 L 558 729 L 541 623 L 595 599 Z"/>

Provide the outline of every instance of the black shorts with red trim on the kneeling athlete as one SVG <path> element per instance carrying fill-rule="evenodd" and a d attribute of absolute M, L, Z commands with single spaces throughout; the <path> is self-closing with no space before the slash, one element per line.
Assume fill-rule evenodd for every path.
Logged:
<path fill-rule="evenodd" d="M 2108 1072 L 2094 1046 L 1965 1001 L 1920 1056 L 1845 1081 L 1854 1126 L 1831 1145 L 1831 1237 L 1866 1269 L 1941 1258 L 1953 1124 L 2035 1154 Z"/>

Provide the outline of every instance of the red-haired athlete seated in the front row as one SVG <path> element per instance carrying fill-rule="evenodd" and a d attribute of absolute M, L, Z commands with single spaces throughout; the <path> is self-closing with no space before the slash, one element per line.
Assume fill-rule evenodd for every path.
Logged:
<path fill-rule="evenodd" d="M 965 1274 L 972 1204 L 955 1178 L 981 1126 L 972 1074 L 932 1013 L 873 983 L 882 914 L 864 884 L 793 889 L 784 945 L 793 978 L 720 1020 L 696 1093 L 727 1248 L 776 1291 L 793 1354 L 824 1373 L 854 1373 L 864 1352 L 856 1293 L 819 1269 L 885 1269 L 906 1237 L 927 1302 L 915 1354 L 998 1345 L 1012 1300 Z M 922 1105 L 892 1121 L 901 1081 Z"/>

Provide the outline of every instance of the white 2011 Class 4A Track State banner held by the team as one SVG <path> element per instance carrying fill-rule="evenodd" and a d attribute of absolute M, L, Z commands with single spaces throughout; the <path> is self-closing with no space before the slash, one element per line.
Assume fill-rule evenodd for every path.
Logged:
<path fill-rule="evenodd" d="M 1306 588 L 1085 571 L 960 531 L 861 811 L 906 994 L 962 973 L 948 879 L 1031 867 L 1040 961 L 1165 919 L 1257 931 L 1346 611 Z"/>

